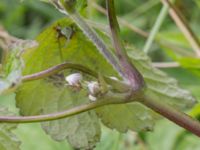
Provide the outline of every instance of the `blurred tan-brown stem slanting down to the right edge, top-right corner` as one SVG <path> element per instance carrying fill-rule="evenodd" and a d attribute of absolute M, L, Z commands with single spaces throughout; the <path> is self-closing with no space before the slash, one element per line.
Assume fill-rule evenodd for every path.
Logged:
<path fill-rule="evenodd" d="M 170 7 L 169 13 L 180 28 L 182 33 L 184 34 L 185 38 L 190 43 L 193 50 L 196 52 L 197 56 L 200 57 L 200 41 L 198 37 L 194 34 L 190 26 L 188 25 L 185 17 L 180 13 L 175 5 L 173 5 L 169 0 L 162 0 L 165 5 Z"/>

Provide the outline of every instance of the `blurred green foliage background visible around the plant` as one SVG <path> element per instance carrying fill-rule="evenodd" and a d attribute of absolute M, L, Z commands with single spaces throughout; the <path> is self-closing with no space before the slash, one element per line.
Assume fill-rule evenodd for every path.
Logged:
<path fill-rule="evenodd" d="M 104 0 L 89 1 L 87 17 L 106 24 L 106 17 L 100 12 L 101 7 L 105 7 Z M 199 37 L 200 0 L 176 0 L 176 6 Z M 120 24 L 122 38 L 126 43 L 142 50 L 147 39 L 145 34 L 151 31 L 162 8 L 160 0 L 117 0 L 116 7 L 118 16 L 126 21 L 126 25 Z M 0 0 L 0 25 L 19 38 L 34 39 L 46 26 L 62 17 L 64 16 L 51 5 L 40 1 Z M 135 27 L 141 31 L 135 31 Z M 175 77 L 183 88 L 190 90 L 197 100 L 200 100 L 200 61 L 194 61 L 192 48 L 169 15 L 164 18 L 149 55 L 154 62 L 178 61 L 181 67 L 165 68 L 163 71 Z M 0 97 L 1 105 L 17 111 L 13 101 L 14 95 Z M 188 113 L 200 118 L 200 106 L 197 105 Z M 156 124 L 154 132 L 121 134 L 106 127 L 102 132 L 102 139 L 96 150 L 200 149 L 197 137 L 165 119 Z M 51 140 L 39 124 L 19 125 L 15 133 L 22 141 L 22 150 L 72 149 L 66 141 L 58 143 Z"/>

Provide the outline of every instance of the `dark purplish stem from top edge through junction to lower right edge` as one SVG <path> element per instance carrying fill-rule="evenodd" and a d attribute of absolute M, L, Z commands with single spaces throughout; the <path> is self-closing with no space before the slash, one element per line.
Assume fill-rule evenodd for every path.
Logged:
<path fill-rule="evenodd" d="M 141 98 L 138 98 L 137 101 L 200 137 L 200 123 L 198 121 L 167 104 L 163 104 L 160 101 L 155 101 L 146 96 L 145 89 L 142 88 L 143 83 L 141 80 L 143 81 L 143 78 L 138 78 L 138 74 L 140 75 L 140 73 L 135 69 L 133 65 L 130 65 L 128 56 L 125 52 L 125 48 L 120 39 L 119 25 L 114 9 L 114 0 L 106 0 L 106 2 L 112 40 L 120 64 L 124 68 L 123 73 L 128 81 L 130 81 L 131 84 L 136 84 L 137 90 L 141 91 L 141 93 L 139 92 L 139 94 L 141 94 Z M 134 91 L 135 87 L 132 86 L 132 88 Z"/>

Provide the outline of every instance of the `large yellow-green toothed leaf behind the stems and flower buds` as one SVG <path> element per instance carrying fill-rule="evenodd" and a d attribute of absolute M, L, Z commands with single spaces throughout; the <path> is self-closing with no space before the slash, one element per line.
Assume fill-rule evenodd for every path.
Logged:
<path fill-rule="evenodd" d="M 73 32 L 70 32 L 70 35 L 62 35 L 58 32 L 58 27 L 68 28 Z M 37 41 L 39 47 L 24 54 L 24 75 L 67 61 L 82 64 L 106 76 L 118 77 L 118 73 L 91 41 L 69 19 L 54 23 L 37 37 Z M 145 78 L 150 98 L 162 100 L 177 108 L 193 105 L 194 99 L 190 93 L 180 89 L 175 79 L 154 69 L 142 51 L 132 49 L 129 55 Z M 65 86 L 64 76 L 72 72 L 75 71 L 62 71 L 46 79 L 24 83 L 16 97 L 21 114 L 47 114 L 89 102 L 87 91 L 78 92 Z M 88 76 L 84 76 L 84 79 L 92 80 Z M 87 149 L 92 148 L 100 137 L 97 115 L 106 126 L 121 132 L 128 129 L 151 130 L 157 118 L 147 107 L 139 103 L 130 103 L 104 106 L 66 119 L 43 123 L 42 126 L 53 139 L 67 138 L 74 147 Z"/>

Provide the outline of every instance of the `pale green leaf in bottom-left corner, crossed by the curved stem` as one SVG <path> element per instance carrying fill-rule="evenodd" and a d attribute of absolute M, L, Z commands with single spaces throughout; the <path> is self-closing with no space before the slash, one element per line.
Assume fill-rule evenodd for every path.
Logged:
<path fill-rule="evenodd" d="M 12 115 L 5 108 L 0 108 L 0 115 Z M 0 149 L 1 150 L 20 150 L 20 142 L 17 137 L 12 133 L 13 129 L 17 127 L 16 124 L 0 124 Z"/>

